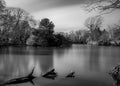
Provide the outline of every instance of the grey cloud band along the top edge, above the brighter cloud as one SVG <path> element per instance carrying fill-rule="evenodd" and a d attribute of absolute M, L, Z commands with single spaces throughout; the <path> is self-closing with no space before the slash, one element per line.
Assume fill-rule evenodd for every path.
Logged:
<path fill-rule="evenodd" d="M 83 4 L 88 0 L 5 0 L 8 6 L 21 7 L 27 11 L 36 12 L 57 7 Z"/>

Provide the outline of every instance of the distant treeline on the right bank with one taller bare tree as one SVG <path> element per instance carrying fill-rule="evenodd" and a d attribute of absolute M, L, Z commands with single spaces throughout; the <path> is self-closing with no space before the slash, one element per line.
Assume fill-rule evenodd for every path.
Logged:
<path fill-rule="evenodd" d="M 72 31 L 69 38 L 73 43 L 120 46 L 120 25 L 113 24 L 106 29 L 102 29 L 103 17 L 89 17 L 85 21 L 86 30 Z"/>

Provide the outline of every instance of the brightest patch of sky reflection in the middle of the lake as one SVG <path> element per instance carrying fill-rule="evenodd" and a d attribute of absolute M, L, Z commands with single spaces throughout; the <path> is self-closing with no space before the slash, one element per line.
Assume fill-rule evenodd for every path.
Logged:
<path fill-rule="evenodd" d="M 58 50 L 54 50 L 54 66 L 57 72 L 61 75 L 65 75 L 70 71 L 75 71 L 76 74 L 83 74 L 88 63 L 88 57 L 86 57 L 87 47 L 83 46 L 83 48 L 81 49 L 81 46 L 73 45 L 69 49 L 64 49 L 62 55 L 60 55 L 60 50 L 60 53 L 56 52 Z"/>

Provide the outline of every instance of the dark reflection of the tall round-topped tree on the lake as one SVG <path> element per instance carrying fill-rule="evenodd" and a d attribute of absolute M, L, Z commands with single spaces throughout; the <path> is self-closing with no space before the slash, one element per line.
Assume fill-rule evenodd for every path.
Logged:
<path fill-rule="evenodd" d="M 34 60 L 34 65 L 37 67 L 37 74 L 45 73 L 53 68 L 53 49 L 52 48 L 28 48 L 31 58 Z M 30 58 L 29 57 L 29 58 Z M 39 72 L 38 72 L 39 70 Z"/>

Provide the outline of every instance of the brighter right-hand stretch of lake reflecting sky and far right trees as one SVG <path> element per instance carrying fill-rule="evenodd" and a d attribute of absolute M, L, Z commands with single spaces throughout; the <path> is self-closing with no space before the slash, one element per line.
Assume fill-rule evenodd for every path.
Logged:
<path fill-rule="evenodd" d="M 54 66 L 61 74 L 73 70 L 77 74 L 106 73 L 120 62 L 120 48 L 73 45 L 69 49 L 54 49 Z"/>

